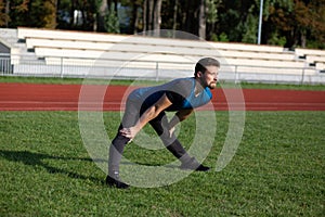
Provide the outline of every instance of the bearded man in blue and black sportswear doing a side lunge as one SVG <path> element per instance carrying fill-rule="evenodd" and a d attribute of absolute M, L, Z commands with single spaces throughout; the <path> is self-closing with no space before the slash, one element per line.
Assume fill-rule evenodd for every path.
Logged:
<path fill-rule="evenodd" d="M 220 63 L 211 58 L 199 60 L 194 77 L 179 78 L 160 86 L 133 90 L 117 135 L 109 148 L 108 176 L 106 184 L 126 189 L 129 184 L 119 178 L 119 164 L 123 149 L 148 123 L 160 137 L 166 148 L 181 161 L 181 169 L 207 171 L 206 167 L 191 157 L 174 135 L 174 126 L 186 119 L 194 108 L 207 104 L 217 86 Z M 168 120 L 165 112 L 176 112 Z"/>

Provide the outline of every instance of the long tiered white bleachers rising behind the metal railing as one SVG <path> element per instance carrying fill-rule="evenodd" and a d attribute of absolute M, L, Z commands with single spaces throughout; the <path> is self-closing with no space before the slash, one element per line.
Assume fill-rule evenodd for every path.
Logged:
<path fill-rule="evenodd" d="M 17 40 L 43 64 L 193 69 L 203 56 L 220 60 L 240 74 L 313 76 L 325 69 L 325 51 L 203 40 L 168 39 L 20 27 Z M 17 54 L 22 49 L 12 48 Z M 26 52 L 25 52 L 26 53 Z M 79 68 L 78 68 L 79 69 Z M 251 76 L 251 75 L 250 75 Z M 244 76 L 245 77 L 245 76 Z"/>

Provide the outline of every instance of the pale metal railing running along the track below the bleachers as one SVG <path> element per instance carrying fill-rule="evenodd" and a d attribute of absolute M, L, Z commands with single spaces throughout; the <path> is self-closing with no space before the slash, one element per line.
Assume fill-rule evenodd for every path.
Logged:
<path fill-rule="evenodd" d="M 93 77 L 162 80 L 192 76 L 194 63 L 68 59 L 0 53 L 0 75 L 41 77 Z M 312 67 L 271 67 L 222 64 L 220 80 L 232 82 L 325 84 L 325 75 Z"/>

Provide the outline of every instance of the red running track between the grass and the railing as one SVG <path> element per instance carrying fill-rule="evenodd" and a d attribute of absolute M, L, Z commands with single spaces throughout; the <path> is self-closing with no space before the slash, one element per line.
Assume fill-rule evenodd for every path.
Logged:
<path fill-rule="evenodd" d="M 0 84 L 0 111 L 120 111 L 125 86 Z M 216 89 L 218 111 L 325 111 L 325 91 Z"/>

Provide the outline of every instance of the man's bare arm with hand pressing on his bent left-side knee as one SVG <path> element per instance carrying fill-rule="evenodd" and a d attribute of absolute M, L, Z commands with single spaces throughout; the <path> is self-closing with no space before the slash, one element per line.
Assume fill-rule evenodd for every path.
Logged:
<path fill-rule="evenodd" d="M 170 106 L 172 103 L 166 94 L 164 94 L 154 105 L 150 106 L 140 117 L 138 123 L 130 128 L 122 128 L 121 135 L 133 139 L 135 135 L 152 119 L 158 116 L 160 112 Z"/>

